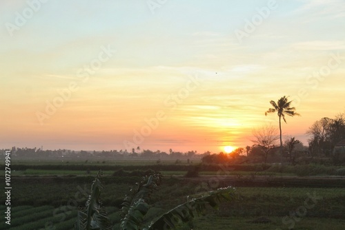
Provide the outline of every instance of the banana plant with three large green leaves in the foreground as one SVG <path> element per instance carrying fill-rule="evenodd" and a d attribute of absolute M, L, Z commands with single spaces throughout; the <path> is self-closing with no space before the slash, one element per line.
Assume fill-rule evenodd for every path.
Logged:
<path fill-rule="evenodd" d="M 101 182 L 99 182 L 99 176 L 97 175 L 92 183 L 92 193 L 86 202 L 86 207 L 78 213 L 75 223 L 76 230 L 111 229 L 110 220 L 99 200 L 101 189 L 103 189 Z M 135 187 L 130 188 L 130 193 L 124 198 L 122 204 L 121 230 L 176 229 L 181 224 L 192 226 L 194 218 L 206 214 L 207 206 L 217 209 L 219 202 L 235 198 L 235 189 L 232 187 L 210 191 L 188 199 L 184 204 L 178 205 L 159 218 L 155 218 L 150 224 L 145 224 L 144 218 L 150 209 L 148 202 L 160 184 L 161 174 L 154 171 L 150 175 L 144 176 L 143 180 L 137 182 Z"/>

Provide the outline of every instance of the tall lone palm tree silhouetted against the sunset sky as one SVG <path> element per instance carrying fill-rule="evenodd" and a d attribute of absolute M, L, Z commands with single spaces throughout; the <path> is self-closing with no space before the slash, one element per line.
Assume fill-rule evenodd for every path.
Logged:
<path fill-rule="evenodd" d="M 288 101 L 288 96 L 283 96 L 280 98 L 277 103 L 275 101 L 270 101 L 270 104 L 273 106 L 273 108 L 268 109 L 265 112 L 265 116 L 267 114 L 273 114 L 277 112 L 277 115 L 279 116 L 279 131 L 280 131 L 280 153 L 282 154 L 283 151 L 283 142 L 282 142 L 282 118 L 284 122 L 286 123 L 285 115 L 288 116 L 301 116 L 300 114 L 297 114 L 295 112 L 295 107 L 290 107 L 291 103 L 293 101 Z"/>

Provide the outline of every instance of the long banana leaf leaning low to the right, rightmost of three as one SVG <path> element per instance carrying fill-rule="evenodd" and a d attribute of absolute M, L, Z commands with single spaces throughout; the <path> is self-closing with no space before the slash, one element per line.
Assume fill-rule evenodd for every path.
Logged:
<path fill-rule="evenodd" d="M 221 200 L 233 200 L 235 198 L 235 189 L 226 187 L 209 192 L 206 196 L 193 198 L 182 205 L 171 209 L 163 216 L 155 220 L 144 230 L 157 229 L 175 229 L 181 223 L 188 223 L 197 216 L 206 213 L 206 205 L 218 209 Z"/>

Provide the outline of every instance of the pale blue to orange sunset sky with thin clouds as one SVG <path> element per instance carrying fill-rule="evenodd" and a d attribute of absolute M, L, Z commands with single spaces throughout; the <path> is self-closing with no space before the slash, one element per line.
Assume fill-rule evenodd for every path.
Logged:
<path fill-rule="evenodd" d="M 219 152 L 345 112 L 344 0 L 0 1 L 0 148 Z"/>

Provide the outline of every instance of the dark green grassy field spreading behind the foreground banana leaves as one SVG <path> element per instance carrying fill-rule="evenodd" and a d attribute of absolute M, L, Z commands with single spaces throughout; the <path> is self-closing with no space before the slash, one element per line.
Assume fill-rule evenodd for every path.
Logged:
<path fill-rule="evenodd" d="M 51 161 L 38 164 L 44 166 L 47 163 L 61 164 Z M 85 161 L 73 164 L 77 163 L 86 164 Z M 130 165 L 129 163 L 122 164 Z M 148 163 L 150 162 L 142 164 Z M 34 162 L 22 161 L 19 165 L 24 164 L 34 165 Z M 97 161 L 88 164 L 103 165 Z M 142 166 L 137 161 L 134 164 Z M 113 229 L 119 229 L 119 209 L 123 198 L 130 186 L 135 185 L 140 177 L 112 176 L 113 173 L 112 170 L 104 171 L 101 178 L 104 185 L 101 198 L 114 224 Z M 150 218 L 155 218 L 181 204 L 188 195 L 232 185 L 228 184 L 232 180 L 224 180 L 225 173 L 220 174 L 219 171 L 201 171 L 201 178 L 190 179 L 181 177 L 186 171 L 167 170 L 162 173 L 164 180 L 160 190 L 152 198 L 154 207 L 148 213 Z M 13 171 L 10 229 L 72 229 L 77 217 L 77 207 L 85 204 L 96 174 L 95 170 L 90 171 L 90 174 L 86 174 L 85 170 L 30 168 Z M 258 176 L 265 176 L 267 180 L 281 180 L 284 175 L 295 174 L 293 171 L 279 174 L 267 170 L 228 171 L 226 175 L 232 176 L 237 185 L 242 185 L 241 181 L 244 181 L 246 187 L 236 187 L 235 201 L 224 203 L 219 210 L 209 210 L 208 215 L 197 218 L 194 229 L 288 229 L 291 226 L 294 229 L 344 229 L 345 186 L 344 183 L 338 182 L 343 180 L 342 178 L 335 178 L 328 187 L 324 187 L 319 180 L 313 181 L 314 177 L 308 177 L 308 181 L 311 182 L 305 184 L 302 180 L 302 185 L 299 182 L 298 187 L 293 183 L 257 187 L 257 183 L 261 183 L 262 180 L 262 177 Z M 255 187 L 250 187 L 252 182 Z M 5 199 L 3 194 L 0 194 L 0 198 Z M 5 208 L 4 205 L 0 205 L 1 213 Z M 1 222 L 0 229 L 9 228 Z"/>

